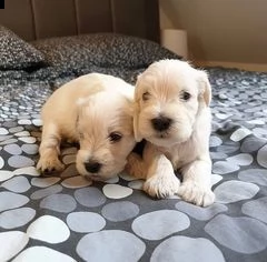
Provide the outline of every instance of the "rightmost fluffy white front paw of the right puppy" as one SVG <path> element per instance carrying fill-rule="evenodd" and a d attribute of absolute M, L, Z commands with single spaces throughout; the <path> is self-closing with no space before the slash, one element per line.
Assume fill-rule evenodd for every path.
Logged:
<path fill-rule="evenodd" d="M 199 185 L 194 181 L 184 182 L 178 194 L 185 201 L 196 205 L 207 206 L 215 202 L 214 192 L 208 187 Z"/>

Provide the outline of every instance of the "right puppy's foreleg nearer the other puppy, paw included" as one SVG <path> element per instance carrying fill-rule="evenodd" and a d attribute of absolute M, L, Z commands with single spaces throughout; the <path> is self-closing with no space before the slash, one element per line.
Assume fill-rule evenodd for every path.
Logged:
<path fill-rule="evenodd" d="M 151 143 L 147 143 L 144 150 L 144 162 L 147 165 L 144 190 L 149 195 L 161 199 L 178 193 L 180 181 L 171 162 Z"/>

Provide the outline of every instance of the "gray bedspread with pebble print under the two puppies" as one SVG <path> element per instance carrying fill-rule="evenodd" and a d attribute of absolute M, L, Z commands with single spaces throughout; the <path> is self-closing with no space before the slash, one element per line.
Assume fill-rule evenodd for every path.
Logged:
<path fill-rule="evenodd" d="M 65 171 L 39 177 L 40 108 L 52 90 L 91 71 L 135 82 L 145 70 L 100 66 L 0 71 L 0 261 L 266 262 L 267 74 L 207 70 L 216 202 L 199 208 L 151 199 L 126 173 L 85 180 L 72 144 Z"/>

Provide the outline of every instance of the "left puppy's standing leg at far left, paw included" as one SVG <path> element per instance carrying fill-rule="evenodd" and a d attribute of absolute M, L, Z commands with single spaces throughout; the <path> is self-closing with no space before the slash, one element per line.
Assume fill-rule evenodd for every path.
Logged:
<path fill-rule="evenodd" d="M 61 171 L 65 165 L 59 160 L 61 138 L 55 123 L 43 124 L 40 159 L 37 169 L 41 172 Z"/>

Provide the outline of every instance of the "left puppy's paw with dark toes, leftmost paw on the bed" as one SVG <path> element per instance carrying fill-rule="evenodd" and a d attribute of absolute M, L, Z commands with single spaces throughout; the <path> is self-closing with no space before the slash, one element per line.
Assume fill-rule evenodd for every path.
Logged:
<path fill-rule="evenodd" d="M 41 173 L 59 172 L 65 169 L 65 165 L 58 158 L 40 158 L 37 164 L 37 170 Z"/>

